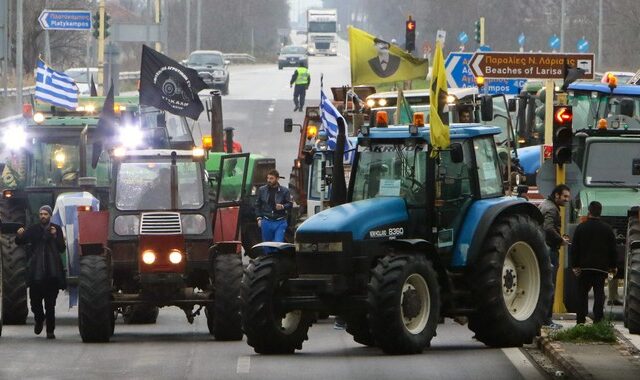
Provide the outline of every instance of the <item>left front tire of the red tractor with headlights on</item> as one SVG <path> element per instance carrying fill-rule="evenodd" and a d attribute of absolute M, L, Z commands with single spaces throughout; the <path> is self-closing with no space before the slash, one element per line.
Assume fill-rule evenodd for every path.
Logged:
<path fill-rule="evenodd" d="M 78 328 L 85 343 L 108 342 L 113 334 L 109 265 L 104 256 L 80 258 Z"/>

